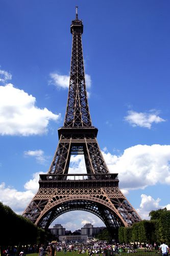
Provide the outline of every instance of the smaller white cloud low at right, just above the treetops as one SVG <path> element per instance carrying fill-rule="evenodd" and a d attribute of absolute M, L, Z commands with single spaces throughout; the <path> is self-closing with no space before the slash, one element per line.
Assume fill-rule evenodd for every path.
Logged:
<path fill-rule="evenodd" d="M 158 209 L 163 209 L 167 208 L 167 210 L 170 210 L 170 204 L 167 205 L 159 205 L 161 199 L 157 198 L 156 200 L 152 198 L 151 196 L 147 196 L 142 194 L 141 195 L 141 203 L 140 203 L 140 208 L 137 209 L 138 214 L 142 219 L 149 220 L 149 213 L 152 210 L 158 210 Z"/>

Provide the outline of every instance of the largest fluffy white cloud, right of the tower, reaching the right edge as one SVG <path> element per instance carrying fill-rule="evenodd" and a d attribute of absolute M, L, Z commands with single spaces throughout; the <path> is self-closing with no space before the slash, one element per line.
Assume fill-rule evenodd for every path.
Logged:
<path fill-rule="evenodd" d="M 103 155 L 110 172 L 118 173 L 123 189 L 170 184 L 170 145 L 135 145 L 121 156 L 105 152 Z"/>

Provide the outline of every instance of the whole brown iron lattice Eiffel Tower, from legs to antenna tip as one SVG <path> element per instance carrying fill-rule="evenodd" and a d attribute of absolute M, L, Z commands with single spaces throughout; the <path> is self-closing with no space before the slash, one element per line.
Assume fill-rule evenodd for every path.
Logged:
<path fill-rule="evenodd" d="M 23 216 L 37 226 L 48 226 L 64 212 L 85 210 L 98 216 L 110 233 L 120 226 L 141 221 L 139 215 L 118 187 L 118 174 L 110 173 L 92 126 L 87 101 L 83 51 L 82 20 L 70 26 L 72 54 L 69 92 L 64 125 L 58 129 L 59 143 L 48 173 L 41 174 L 39 190 Z M 84 155 L 86 173 L 69 174 L 71 155 Z"/>

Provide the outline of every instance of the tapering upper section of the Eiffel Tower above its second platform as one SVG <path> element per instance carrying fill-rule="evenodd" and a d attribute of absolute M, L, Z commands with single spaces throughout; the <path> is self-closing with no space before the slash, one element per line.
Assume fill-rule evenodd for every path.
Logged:
<path fill-rule="evenodd" d="M 72 34 L 72 53 L 64 127 L 91 127 L 82 50 L 83 23 L 82 20 L 78 19 L 77 6 L 76 19 L 72 20 L 70 31 Z"/>

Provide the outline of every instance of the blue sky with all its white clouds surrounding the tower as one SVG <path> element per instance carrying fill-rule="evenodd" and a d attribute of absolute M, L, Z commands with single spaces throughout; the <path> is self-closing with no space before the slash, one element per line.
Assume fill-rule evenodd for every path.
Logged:
<path fill-rule="evenodd" d="M 36 193 L 58 143 L 68 94 L 70 23 L 83 20 L 89 108 L 98 142 L 119 187 L 142 218 L 170 209 L 170 2 L 0 2 L 0 200 L 21 213 Z M 83 160 L 72 158 L 72 172 Z M 67 229 L 86 212 L 59 217 Z"/>

